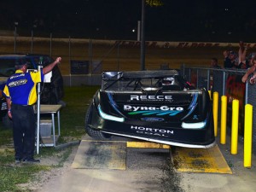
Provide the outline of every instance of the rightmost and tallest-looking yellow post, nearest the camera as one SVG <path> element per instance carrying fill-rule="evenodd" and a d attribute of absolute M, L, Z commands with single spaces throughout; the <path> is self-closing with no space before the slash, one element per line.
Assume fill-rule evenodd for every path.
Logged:
<path fill-rule="evenodd" d="M 244 167 L 252 166 L 253 106 L 245 106 L 244 117 Z"/>

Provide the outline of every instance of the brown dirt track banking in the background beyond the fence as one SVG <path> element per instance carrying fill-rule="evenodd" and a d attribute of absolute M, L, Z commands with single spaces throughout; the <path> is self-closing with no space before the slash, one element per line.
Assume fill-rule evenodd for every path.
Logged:
<path fill-rule="evenodd" d="M 90 42 L 92 44 L 90 44 Z M 18 37 L 14 46 L 13 37 L 0 36 L 0 54 L 17 53 L 46 54 L 53 57 L 61 56 L 61 73 L 70 73 L 69 61 L 102 61 L 103 71 L 131 71 L 141 69 L 141 48 L 136 41 L 115 40 L 89 40 L 55 38 Z M 145 68 L 159 69 L 161 65 L 170 68 L 180 68 L 181 65 L 209 67 L 212 57 L 218 58 L 218 63 L 223 65 L 223 51 L 233 49 L 238 51 L 238 41 L 234 44 L 219 43 L 165 43 L 147 42 L 145 48 Z M 248 53 L 256 52 L 252 48 Z"/>

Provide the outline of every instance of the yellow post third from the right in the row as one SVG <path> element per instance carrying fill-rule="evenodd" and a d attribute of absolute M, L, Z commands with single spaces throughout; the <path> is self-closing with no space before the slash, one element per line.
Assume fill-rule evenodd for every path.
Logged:
<path fill-rule="evenodd" d="M 220 143 L 226 143 L 227 131 L 227 96 L 221 96 L 221 125 L 220 125 Z"/>

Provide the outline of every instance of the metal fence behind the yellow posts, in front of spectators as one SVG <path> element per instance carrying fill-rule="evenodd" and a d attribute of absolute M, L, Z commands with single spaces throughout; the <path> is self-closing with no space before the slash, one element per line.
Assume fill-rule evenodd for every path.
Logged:
<path fill-rule="evenodd" d="M 233 113 L 232 102 L 239 101 L 239 124 L 241 124 L 240 137 L 244 137 L 245 106 L 256 105 L 256 86 L 241 82 L 246 69 L 227 69 L 210 67 L 191 67 L 183 64 L 181 74 L 197 88 L 205 88 L 211 92 L 218 92 L 218 106 L 221 97 L 227 96 L 228 115 Z M 218 119 L 221 115 L 221 108 L 218 108 Z M 253 108 L 253 153 L 256 153 L 256 108 Z M 231 126 L 231 123 L 228 123 Z"/>

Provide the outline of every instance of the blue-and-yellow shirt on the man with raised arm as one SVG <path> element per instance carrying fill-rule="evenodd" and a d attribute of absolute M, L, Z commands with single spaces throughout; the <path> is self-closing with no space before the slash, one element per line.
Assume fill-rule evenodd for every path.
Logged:
<path fill-rule="evenodd" d="M 16 70 L 15 74 L 10 76 L 7 80 L 3 92 L 11 99 L 12 103 L 32 105 L 37 102 L 38 99 L 37 83 L 43 80 L 43 70 L 29 73 Z"/>

